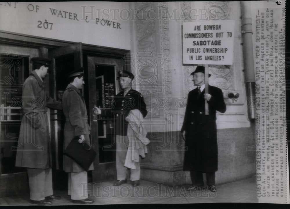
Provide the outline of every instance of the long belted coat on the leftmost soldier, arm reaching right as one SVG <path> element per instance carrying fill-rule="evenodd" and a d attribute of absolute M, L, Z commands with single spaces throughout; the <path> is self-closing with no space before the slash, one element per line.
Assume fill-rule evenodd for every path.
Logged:
<path fill-rule="evenodd" d="M 22 87 L 21 126 L 15 166 L 48 169 L 52 165 L 47 108 L 61 109 L 61 102 L 49 97 L 35 71 Z"/>

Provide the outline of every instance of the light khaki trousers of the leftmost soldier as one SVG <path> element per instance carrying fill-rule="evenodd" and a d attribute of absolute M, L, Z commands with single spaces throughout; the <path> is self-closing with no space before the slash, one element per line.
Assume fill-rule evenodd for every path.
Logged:
<path fill-rule="evenodd" d="M 45 197 L 53 194 L 51 168 L 27 168 L 27 174 L 31 200 L 44 200 Z"/>

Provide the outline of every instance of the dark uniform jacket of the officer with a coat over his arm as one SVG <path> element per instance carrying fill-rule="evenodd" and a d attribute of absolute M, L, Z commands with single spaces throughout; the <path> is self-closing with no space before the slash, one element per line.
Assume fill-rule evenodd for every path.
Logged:
<path fill-rule="evenodd" d="M 127 136 L 128 121 L 125 118 L 133 109 L 138 109 L 143 118 L 147 115 L 143 95 L 138 91 L 131 88 L 126 95 L 124 95 L 124 91 L 121 91 L 114 97 L 112 109 L 106 111 L 113 118 L 113 134 Z"/>

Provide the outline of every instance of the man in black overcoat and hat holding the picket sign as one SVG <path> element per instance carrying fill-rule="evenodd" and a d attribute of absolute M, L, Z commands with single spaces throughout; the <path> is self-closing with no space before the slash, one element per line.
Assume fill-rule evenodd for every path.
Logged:
<path fill-rule="evenodd" d="M 216 191 L 215 171 L 218 170 L 216 111 L 224 113 L 226 105 L 221 89 L 209 85 L 209 93 L 204 93 L 203 66 L 197 66 L 191 75 L 197 88 L 188 94 L 181 129 L 187 147 L 184 153 L 183 170 L 190 171 L 192 186 L 189 190 L 196 190 L 204 185 L 202 173 L 206 173 L 209 190 L 214 192 Z M 205 100 L 209 105 L 209 115 L 205 115 Z"/>

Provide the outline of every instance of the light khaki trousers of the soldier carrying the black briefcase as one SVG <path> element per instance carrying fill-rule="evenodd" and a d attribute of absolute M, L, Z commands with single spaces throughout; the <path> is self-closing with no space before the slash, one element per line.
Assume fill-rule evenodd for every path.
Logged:
<path fill-rule="evenodd" d="M 72 200 L 87 199 L 88 174 L 86 171 L 68 173 L 68 195 Z"/>

